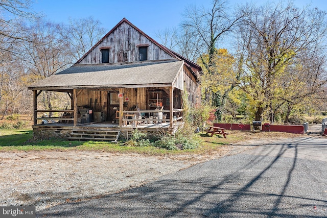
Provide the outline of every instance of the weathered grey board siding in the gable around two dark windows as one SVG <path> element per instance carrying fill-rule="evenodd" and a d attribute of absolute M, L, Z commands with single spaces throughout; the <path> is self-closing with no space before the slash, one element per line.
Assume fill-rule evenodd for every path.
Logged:
<path fill-rule="evenodd" d="M 98 46 L 96 46 L 80 64 L 102 63 L 102 48 L 109 49 L 109 63 L 133 62 L 139 60 L 138 46 L 148 45 L 148 60 L 174 59 L 170 54 L 160 49 L 147 37 L 123 22 L 111 34 L 109 34 Z"/>

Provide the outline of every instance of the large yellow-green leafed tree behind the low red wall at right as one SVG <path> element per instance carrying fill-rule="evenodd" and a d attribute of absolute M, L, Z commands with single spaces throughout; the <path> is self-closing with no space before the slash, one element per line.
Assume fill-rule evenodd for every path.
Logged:
<path fill-rule="evenodd" d="M 255 107 L 255 120 L 267 118 L 273 122 L 278 108 L 287 104 L 290 112 L 326 82 L 326 13 L 300 10 L 292 2 L 286 6 L 282 2 L 245 5 L 239 13 L 244 15 L 237 31 L 238 58 L 242 60 L 239 87 Z M 299 90 L 303 94 L 298 95 Z"/>

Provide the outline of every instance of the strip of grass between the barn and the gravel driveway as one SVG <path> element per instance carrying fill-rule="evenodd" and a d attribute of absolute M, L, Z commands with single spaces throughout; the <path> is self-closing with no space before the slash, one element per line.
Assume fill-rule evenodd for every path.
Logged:
<path fill-rule="evenodd" d="M 179 154 L 207 154 L 219 149 L 225 144 L 238 140 L 230 135 L 227 139 L 220 136 L 208 137 L 199 133 L 204 143 L 201 148 L 193 150 L 168 151 L 153 146 L 127 147 L 124 142 L 111 143 L 104 141 L 68 141 L 58 138 L 34 140 L 31 129 L 0 130 L 0 152 L 19 151 L 97 151 L 110 153 L 138 153 L 147 155 L 179 155 Z"/>

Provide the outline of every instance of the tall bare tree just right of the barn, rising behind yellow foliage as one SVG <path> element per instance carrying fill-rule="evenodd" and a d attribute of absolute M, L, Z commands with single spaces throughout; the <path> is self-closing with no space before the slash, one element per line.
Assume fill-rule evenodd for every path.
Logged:
<path fill-rule="evenodd" d="M 190 36 L 200 42 L 197 44 L 200 45 L 197 49 L 198 54 L 200 54 L 198 57 L 201 59 L 202 69 L 205 68 L 204 71 L 208 75 L 219 74 L 215 56 L 217 56 L 217 47 L 222 48 L 222 46 L 218 46 L 218 44 L 240 22 L 243 16 L 233 16 L 228 12 L 230 12 L 228 1 L 213 0 L 212 7 L 209 9 L 190 6 L 186 8 L 184 13 L 182 27 L 187 30 L 187 37 Z M 202 54 L 208 54 L 208 58 L 204 58 L 207 56 Z M 221 109 L 227 98 L 228 91 L 233 87 L 235 86 L 230 86 L 230 89 L 224 92 L 214 91 L 211 87 L 202 90 L 204 101 L 211 102 L 217 108 L 216 116 L 218 119 L 221 119 Z"/>

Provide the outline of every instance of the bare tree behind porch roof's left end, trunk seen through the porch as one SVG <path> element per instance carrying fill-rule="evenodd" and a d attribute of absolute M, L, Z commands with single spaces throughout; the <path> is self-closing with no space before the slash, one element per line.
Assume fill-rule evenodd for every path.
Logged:
<path fill-rule="evenodd" d="M 33 37 L 22 45 L 21 61 L 30 74 L 30 82 L 50 77 L 72 65 L 73 57 L 69 44 L 61 34 L 62 29 L 62 25 L 44 20 L 39 20 L 29 28 L 29 34 Z M 42 94 L 43 107 L 53 109 L 54 93 L 43 91 Z"/>

